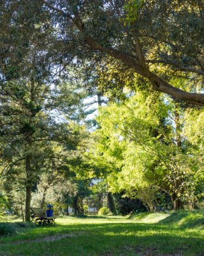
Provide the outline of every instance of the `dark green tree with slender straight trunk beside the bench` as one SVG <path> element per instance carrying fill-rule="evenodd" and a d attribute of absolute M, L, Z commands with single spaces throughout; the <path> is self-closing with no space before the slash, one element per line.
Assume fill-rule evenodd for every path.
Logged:
<path fill-rule="evenodd" d="M 80 125 L 71 122 L 81 100 L 80 93 L 74 91 L 75 88 L 62 84 L 52 88 L 37 77 L 11 81 L 0 87 L 3 172 L 5 175 L 12 172 L 18 164 L 21 164 L 18 173 L 25 170 L 26 221 L 30 221 L 31 189 L 42 170 L 41 163 L 50 156 L 56 157 L 54 145 L 75 150 L 82 138 L 81 132 L 84 133 Z M 57 120 L 54 110 L 58 113 L 66 111 L 66 115 Z"/>

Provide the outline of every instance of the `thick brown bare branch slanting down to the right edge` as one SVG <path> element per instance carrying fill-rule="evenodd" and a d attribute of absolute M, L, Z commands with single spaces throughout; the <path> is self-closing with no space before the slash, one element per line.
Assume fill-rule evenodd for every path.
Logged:
<path fill-rule="evenodd" d="M 142 61 L 136 60 L 135 58 L 131 57 L 127 52 L 119 51 L 118 49 L 115 49 L 113 47 L 105 47 L 104 45 L 100 44 L 97 39 L 87 34 L 85 24 L 82 21 L 80 15 L 78 14 L 77 10 L 72 10 L 72 18 L 63 10 L 55 8 L 54 6 L 50 6 L 50 4 L 47 3 L 47 1 L 40 1 L 46 6 L 48 6 L 48 8 L 54 10 L 55 12 L 68 17 L 68 19 L 71 20 L 73 24 L 78 28 L 78 30 L 82 33 L 85 42 L 91 47 L 92 50 L 109 54 L 113 58 L 122 61 L 129 68 L 133 68 L 133 70 L 135 70 L 137 74 L 140 74 L 143 77 L 149 79 L 150 84 L 152 84 L 153 90 L 156 90 L 157 92 L 166 93 L 170 95 L 174 100 L 179 102 L 186 102 L 186 104 L 196 106 L 204 106 L 204 93 L 189 93 L 179 88 L 175 88 L 168 82 L 164 81 L 161 77 L 157 76 L 153 72 L 150 72 L 149 68 L 146 65 L 144 65 Z M 136 47 L 138 49 L 138 42 Z M 140 53 L 141 52 L 139 52 L 139 54 Z"/>

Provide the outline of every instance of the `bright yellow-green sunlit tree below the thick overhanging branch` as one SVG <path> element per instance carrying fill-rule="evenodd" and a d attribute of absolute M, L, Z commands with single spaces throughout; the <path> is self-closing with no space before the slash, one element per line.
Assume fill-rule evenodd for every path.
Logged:
<path fill-rule="evenodd" d="M 153 105 L 150 98 L 136 93 L 124 104 L 102 108 L 97 118 L 101 129 L 96 131 L 94 154 L 101 155 L 104 163 L 120 166 L 107 174 L 108 186 L 113 193 L 125 191 L 139 198 L 150 211 L 156 209 L 161 191 L 171 196 L 175 210 L 193 209 L 203 182 L 198 156 L 187 138 L 178 140 L 181 134 L 170 122 L 170 113 L 175 114 L 174 107 Z M 178 113 L 175 120 L 179 122 Z"/>

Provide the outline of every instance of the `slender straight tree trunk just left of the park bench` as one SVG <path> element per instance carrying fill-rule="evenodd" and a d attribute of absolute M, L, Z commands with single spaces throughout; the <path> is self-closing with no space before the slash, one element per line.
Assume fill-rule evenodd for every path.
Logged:
<path fill-rule="evenodd" d="M 25 172 L 27 177 L 27 184 L 25 190 L 25 221 L 31 221 L 31 157 L 27 156 L 25 159 Z"/>

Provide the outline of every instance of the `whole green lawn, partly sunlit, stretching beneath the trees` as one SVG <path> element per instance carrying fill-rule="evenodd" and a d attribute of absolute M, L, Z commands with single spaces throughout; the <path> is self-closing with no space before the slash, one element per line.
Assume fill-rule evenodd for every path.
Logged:
<path fill-rule="evenodd" d="M 68 217 L 55 227 L 18 227 L 15 236 L 0 238 L 0 255 L 204 255 L 202 211 Z"/>

